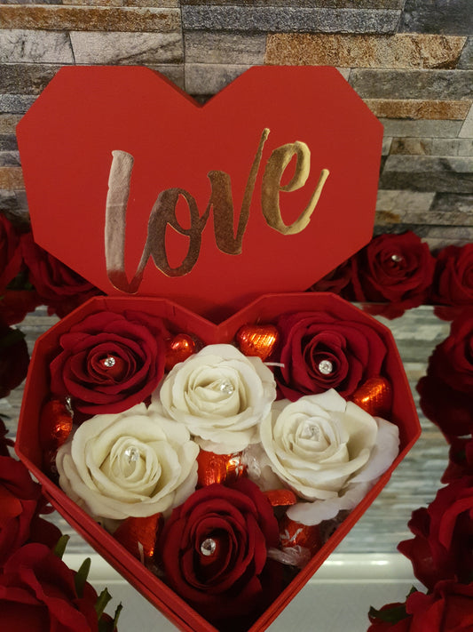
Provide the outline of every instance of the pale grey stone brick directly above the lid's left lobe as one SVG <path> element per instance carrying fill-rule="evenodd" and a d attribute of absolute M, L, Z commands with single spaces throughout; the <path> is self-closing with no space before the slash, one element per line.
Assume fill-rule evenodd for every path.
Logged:
<path fill-rule="evenodd" d="M 71 31 L 70 37 L 77 64 L 176 64 L 184 60 L 179 32 Z"/>

